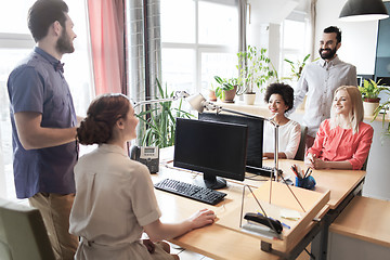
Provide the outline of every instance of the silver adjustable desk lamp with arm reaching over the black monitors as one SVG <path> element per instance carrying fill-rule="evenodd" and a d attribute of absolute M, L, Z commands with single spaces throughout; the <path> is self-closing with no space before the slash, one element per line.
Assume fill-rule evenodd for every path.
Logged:
<path fill-rule="evenodd" d="M 264 118 L 261 116 L 255 116 L 251 114 L 247 114 L 247 113 L 242 113 L 242 112 L 237 112 L 237 110 L 233 110 L 233 109 L 227 109 L 227 108 L 223 108 L 222 106 L 219 106 L 212 102 L 206 101 L 206 99 L 200 94 L 194 94 L 194 95 L 190 95 L 186 99 L 186 102 L 190 103 L 190 105 L 196 109 L 198 113 L 203 113 L 205 109 L 206 110 L 217 110 L 217 114 L 224 110 L 224 112 L 229 112 L 232 114 L 236 114 L 236 115 L 242 115 L 245 117 L 251 117 L 251 118 L 260 118 L 263 120 L 266 120 L 269 122 L 271 122 L 274 126 L 275 129 L 275 147 L 274 147 L 274 177 L 275 180 L 277 180 L 277 172 L 278 172 L 278 125 L 274 121 L 275 116 L 271 117 L 271 118 Z M 270 177 L 271 179 L 271 187 L 272 187 L 272 176 Z M 271 203 L 271 190 L 270 188 L 270 203 Z"/>

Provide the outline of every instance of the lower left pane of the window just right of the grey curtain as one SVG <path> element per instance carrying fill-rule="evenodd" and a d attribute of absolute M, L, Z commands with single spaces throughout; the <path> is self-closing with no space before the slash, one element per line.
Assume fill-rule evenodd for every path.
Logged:
<path fill-rule="evenodd" d="M 186 49 L 162 49 L 162 87 L 169 91 L 185 90 L 193 93 L 195 90 L 195 51 Z"/>

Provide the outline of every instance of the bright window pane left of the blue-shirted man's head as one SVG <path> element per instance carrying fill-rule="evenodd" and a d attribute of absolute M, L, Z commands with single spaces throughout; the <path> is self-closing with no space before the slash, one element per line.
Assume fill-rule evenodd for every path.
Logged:
<path fill-rule="evenodd" d="M 27 12 L 35 0 L 1 1 L 0 32 L 29 34 Z"/>

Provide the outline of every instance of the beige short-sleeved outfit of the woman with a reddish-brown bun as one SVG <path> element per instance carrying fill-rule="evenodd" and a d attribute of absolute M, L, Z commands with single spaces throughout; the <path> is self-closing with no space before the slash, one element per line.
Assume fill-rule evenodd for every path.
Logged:
<path fill-rule="evenodd" d="M 146 166 L 102 144 L 79 159 L 75 181 L 69 232 L 81 238 L 76 259 L 152 259 L 140 238 L 160 210 Z"/>

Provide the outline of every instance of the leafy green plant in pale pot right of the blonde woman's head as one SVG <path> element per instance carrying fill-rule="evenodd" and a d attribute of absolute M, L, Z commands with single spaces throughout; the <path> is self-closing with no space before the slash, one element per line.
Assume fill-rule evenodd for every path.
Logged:
<path fill-rule="evenodd" d="M 362 93 L 365 116 L 374 115 L 374 112 L 379 106 L 380 98 L 378 98 L 378 95 L 382 90 L 387 89 L 386 87 L 379 86 L 379 82 L 380 79 L 378 82 L 375 82 L 373 79 L 364 79 L 363 86 L 359 87 Z"/>

